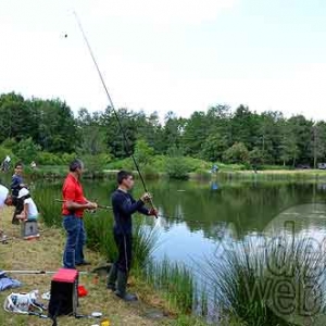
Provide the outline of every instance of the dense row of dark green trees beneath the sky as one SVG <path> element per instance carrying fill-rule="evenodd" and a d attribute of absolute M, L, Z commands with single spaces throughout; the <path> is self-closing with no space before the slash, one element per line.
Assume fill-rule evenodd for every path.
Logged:
<path fill-rule="evenodd" d="M 161 122 L 158 112 L 146 114 L 128 109 L 117 112 L 130 143 L 123 135 L 111 108 L 76 115 L 60 99 L 25 99 L 18 93 L 0 96 L 0 143 L 26 147 L 62 155 L 106 155 L 124 159 L 137 141 L 152 155 L 192 156 L 209 162 L 290 165 L 326 162 L 326 123 L 303 115 L 285 117 L 281 112 L 258 113 L 246 105 L 233 111 L 217 104 L 189 118 L 168 112 Z M 23 141 L 23 143 L 22 143 Z M 13 145 L 15 143 L 15 145 Z"/>

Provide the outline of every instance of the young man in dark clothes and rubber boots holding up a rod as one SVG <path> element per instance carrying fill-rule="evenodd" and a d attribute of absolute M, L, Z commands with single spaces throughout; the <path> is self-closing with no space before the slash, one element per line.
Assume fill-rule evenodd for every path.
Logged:
<path fill-rule="evenodd" d="M 118 188 L 112 193 L 112 206 L 114 214 L 113 235 L 118 251 L 118 258 L 112 265 L 108 277 L 108 289 L 115 291 L 115 294 L 125 301 L 136 301 L 137 297 L 126 292 L 128 273 L 131 264 L 133 251 L 133 221 L 131 215 L 139 212 L 143 215 L 155 216 L 155 209 L 148 210 L 146 202 L 151 200 L 149 193 L 143 193 L 136 201 L 129 190 L 134 187 L 134 177 L 126 171 L 117 174 Z"/>

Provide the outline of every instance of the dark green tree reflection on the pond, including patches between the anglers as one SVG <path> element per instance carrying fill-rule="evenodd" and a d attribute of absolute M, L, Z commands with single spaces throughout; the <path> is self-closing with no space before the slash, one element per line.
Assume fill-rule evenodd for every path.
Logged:
<path fill-rule="evenodd" d="M 116 188 L 115 180 L 83 180 L 86 197 L 102 204 L 111 204 L 111 193 Z M 236 233 L 243 237 L 252 230 L 262 231 L 281 211 L 289 206 L 323 201 L 324 187 L 301 183 L 226 183 L 212 191 L 209 183 L 173 183 L 155 180 L 148 184 L 154 195 L 154 202 L 165 215 L 180 216 L 190 231 L 203 230 L 206 238 L 218 239 L 221 227 L 231 223 Z M 47 191 L 49 197 L 61 198 L 62 180 L 55 183 L 37 181 L 36 191 Z M 183 192 L 177 190 L 185 190 Z M 143 190 L 137 183 L 133 191 L 137 199 Z M 112 217 L 112 212 L 108 212 Z M 187 220 L 199 220 L 195 223 Z M 145 218 L 151 224 L 151 218 Z M 167 221 L 166 229 L 174 221 Z"/>

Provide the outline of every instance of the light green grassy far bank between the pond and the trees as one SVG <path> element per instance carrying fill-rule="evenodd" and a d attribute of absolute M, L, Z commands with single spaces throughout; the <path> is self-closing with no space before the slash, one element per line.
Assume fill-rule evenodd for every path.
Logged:
<path fill-rule="evenodd" d="M 241 164 L 221 164 L 218 165 L 218 173 L 211 173 L 211 164 L 200 160 L 189 159 L 189 164 L 181 164 L 181 166 L 174 166 L 176 170 L 171 173 L 166 171 L 164 164 L 155 166 L 145 166 L 141 168 L 142 175 L 147 179 L 155 178 L 180 178 L 180 179 L 211 179 L 217 178 L 221 180 L 228 179 L 265 179 L 265 180 L 315 180 L 326 179 L 326 171 L 323 170 L 293 170 L 284 166 L 261 166 L 256 172 L 248 170 L 248 166 Z M 176 160 L 177 161 L 177 160 Z M 125 164 L 125 165 L 124 165 Z M 188 166 L 188 167 L 187 167 Z M 111 164 L 106 168 L 98 172 L 87 171 L 84 174 L 85 179 L 115 179 L 118 170 L 134 170 L 129 159 L 118 161 Z M 134 171 L 137 177 L 137 171 Z M 32 179 L 60 179 L 64 178 L 67 174 L 67 166 L 65 165 L 49 165 L 38 166 L 35 170 L 26 168 L 25 175 Z"/>

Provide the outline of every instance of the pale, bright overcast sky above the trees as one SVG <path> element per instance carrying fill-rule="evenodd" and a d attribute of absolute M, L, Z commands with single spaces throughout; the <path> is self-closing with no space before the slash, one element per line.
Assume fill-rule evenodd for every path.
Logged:
<path fill-rule="evenodd" d="M 74 11 L 116 108 L 326 120 L 325 0 L 0 0 L 0 93 L 105 109 Z"/>

